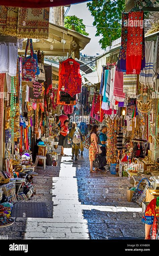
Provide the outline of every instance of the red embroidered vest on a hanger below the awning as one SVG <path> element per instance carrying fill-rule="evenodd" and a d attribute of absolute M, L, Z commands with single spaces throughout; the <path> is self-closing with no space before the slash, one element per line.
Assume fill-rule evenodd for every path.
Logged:
<path fill-rule="evenodd" d="M 82 77 L 80 64 L 69 58 L 61 63 L 59 69 L 59 91 L 64 91 L 73 97 L 81 93 Z"/>

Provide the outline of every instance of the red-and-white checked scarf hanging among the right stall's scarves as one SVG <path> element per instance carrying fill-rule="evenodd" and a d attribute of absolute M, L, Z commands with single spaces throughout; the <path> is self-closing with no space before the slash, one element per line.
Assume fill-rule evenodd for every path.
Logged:
<path fill-rule="evenodd" d="M 125 93 L 123 93 L 123 72 L 119 72 L 117 70 L 115 70 L 113 94 L 117 101 L 124 101 Z"/>

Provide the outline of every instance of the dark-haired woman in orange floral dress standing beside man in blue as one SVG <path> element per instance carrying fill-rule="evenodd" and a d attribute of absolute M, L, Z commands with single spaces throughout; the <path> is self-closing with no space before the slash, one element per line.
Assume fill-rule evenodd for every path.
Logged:
<path fill-rule="evenodd" d="M 96 154 L 99 153 L 98 152 L 98 138 L 97 138 L 97 131 L 98 131 L 98 125 L 94 124 L 91 130 L 91 144 L 89 147 L 89 160 L 90 160 L 90 172 L 97 172 L 93 170 L 93 161 L 96 158 Z"/>

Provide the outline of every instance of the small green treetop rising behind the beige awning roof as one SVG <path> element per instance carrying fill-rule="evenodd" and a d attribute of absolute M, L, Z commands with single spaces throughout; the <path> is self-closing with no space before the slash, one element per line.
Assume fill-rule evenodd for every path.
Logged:
<path fill-rule="evenodd" d="M 64 19 L 64 26 L 65 28 L 72 29 L 83 35 L 89 36 L 89 33 L 86 32 L 86 26 L 84 25 L 83 20 L 77 18 L 75 15 L 66 16 Z"/>

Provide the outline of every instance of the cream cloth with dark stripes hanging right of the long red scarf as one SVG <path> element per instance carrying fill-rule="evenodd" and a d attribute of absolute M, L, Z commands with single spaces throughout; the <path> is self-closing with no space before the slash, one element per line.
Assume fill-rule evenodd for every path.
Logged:
<path fill-rule="evenodd" d="M 154 41 L 145 41 L 145 69 L 140 72 L 139 82 L 144 86 L 152 86 Z"/>

